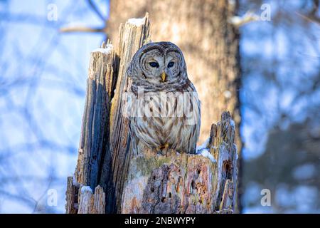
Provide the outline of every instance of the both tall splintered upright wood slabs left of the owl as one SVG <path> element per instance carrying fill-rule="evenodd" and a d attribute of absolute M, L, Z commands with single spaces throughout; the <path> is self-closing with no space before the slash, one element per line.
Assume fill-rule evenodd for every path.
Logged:
<path fill-rule="evenodd" d="M 118 210 L 128 166 L 129 129 L 122 116 L 122 96 L 129 86 L 126 70 L 134 53 L 148 39 L 149 15 L 146 14 L 143 19 L 129 20 L 120 26 L 117 51 L 108 43 L 91 53 L 75 181 L 91 189 L 101 185 L 107 194 L 109 213 Z M 67 194 L 72 190 L 70 185 Z M 72 199 L 67 198 L 69 208 Z M 84 199 L 79 197 L 80 205 Z M 82 212 L 87 211 L 82 209 Z"/>

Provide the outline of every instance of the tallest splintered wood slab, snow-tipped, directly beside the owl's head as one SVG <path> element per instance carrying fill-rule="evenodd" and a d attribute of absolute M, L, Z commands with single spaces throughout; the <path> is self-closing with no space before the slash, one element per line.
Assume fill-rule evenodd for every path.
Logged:
<path fill-rule="evenodd" d="M 124 178 L 127 173 L 130 136 L 127 118 L 122 115 L 124 93 L 129 88 L 127 66 L 132 56 L 149 39 L 149 15 L 143 19 L 131 19 L 119 27 L 119 70 L 117 72 L 117 86 L 110 110 L 110 155 L 111 170 L 102 172 L 102 177 L 109 180 L 107 184 L 107 212 L 119 212 Z M 106 163 L 109 162 L 106 160 Z M 108 176 L 109 175 L 109 176 Z"/>

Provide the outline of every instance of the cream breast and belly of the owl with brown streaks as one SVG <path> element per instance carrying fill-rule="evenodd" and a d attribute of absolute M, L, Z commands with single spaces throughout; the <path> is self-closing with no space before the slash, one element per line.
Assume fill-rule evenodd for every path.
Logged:
<path fill-rule="evenodd" d="M 145 93 L 130 103 L 134 116 L 131 129 L 150 147 L 169 143 L 172 149 L 189 150 L 195 145 L 200 128 L 200 106 L 193 94 Z"/>

